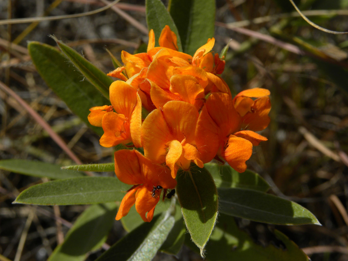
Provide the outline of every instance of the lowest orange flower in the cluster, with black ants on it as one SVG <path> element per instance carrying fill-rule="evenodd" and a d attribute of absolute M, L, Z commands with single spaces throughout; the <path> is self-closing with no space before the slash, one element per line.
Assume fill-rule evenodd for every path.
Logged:
<path fill-rule="evenodd" d="M 176 180 L 171 177 L 168 168 L 153 163 L 136 150 L 119 150 L 114 154 L 116 176 L 120 181 L 134 185 L 122 199 L 116 220 L 127 215 L 135 204 L 143 221 L 150 222 L 162 190 L 154 188 L 173 189 Z"/>

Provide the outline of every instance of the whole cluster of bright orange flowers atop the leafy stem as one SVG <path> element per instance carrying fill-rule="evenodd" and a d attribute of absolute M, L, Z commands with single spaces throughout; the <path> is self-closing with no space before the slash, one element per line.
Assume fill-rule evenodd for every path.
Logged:
<path fill-rule="evenodd" d="M 115 152 L 118 179 L 133 185 L 117 220 L 135 204 L 142 219 L 151 221 L 162 189 L 164 196 L 174 189 L 178 169 L 187 170 L 191 163 L 203 168 L 216 158 L 244 172 L 253 145 L 267 140 L 254 131 L 269 124 L 269 91 L 249 89 L 232 98 L 218 76 L 225 62 L 211 52 L 214 42 L 208 39 L 191 56 L 177 51 L 169 26 L 161 32 L 160 47 L 151 30 L 147 53 L 122 51 L 124 66 L 108 74 L 120 79 L 110 86 L 111 105 L 91 108 L 89 122 L 103 128 L 102 146 L 131 143 L 144 150 L 144 155 Z M 144 111 L 149 114 L 142 119 Z"/>

